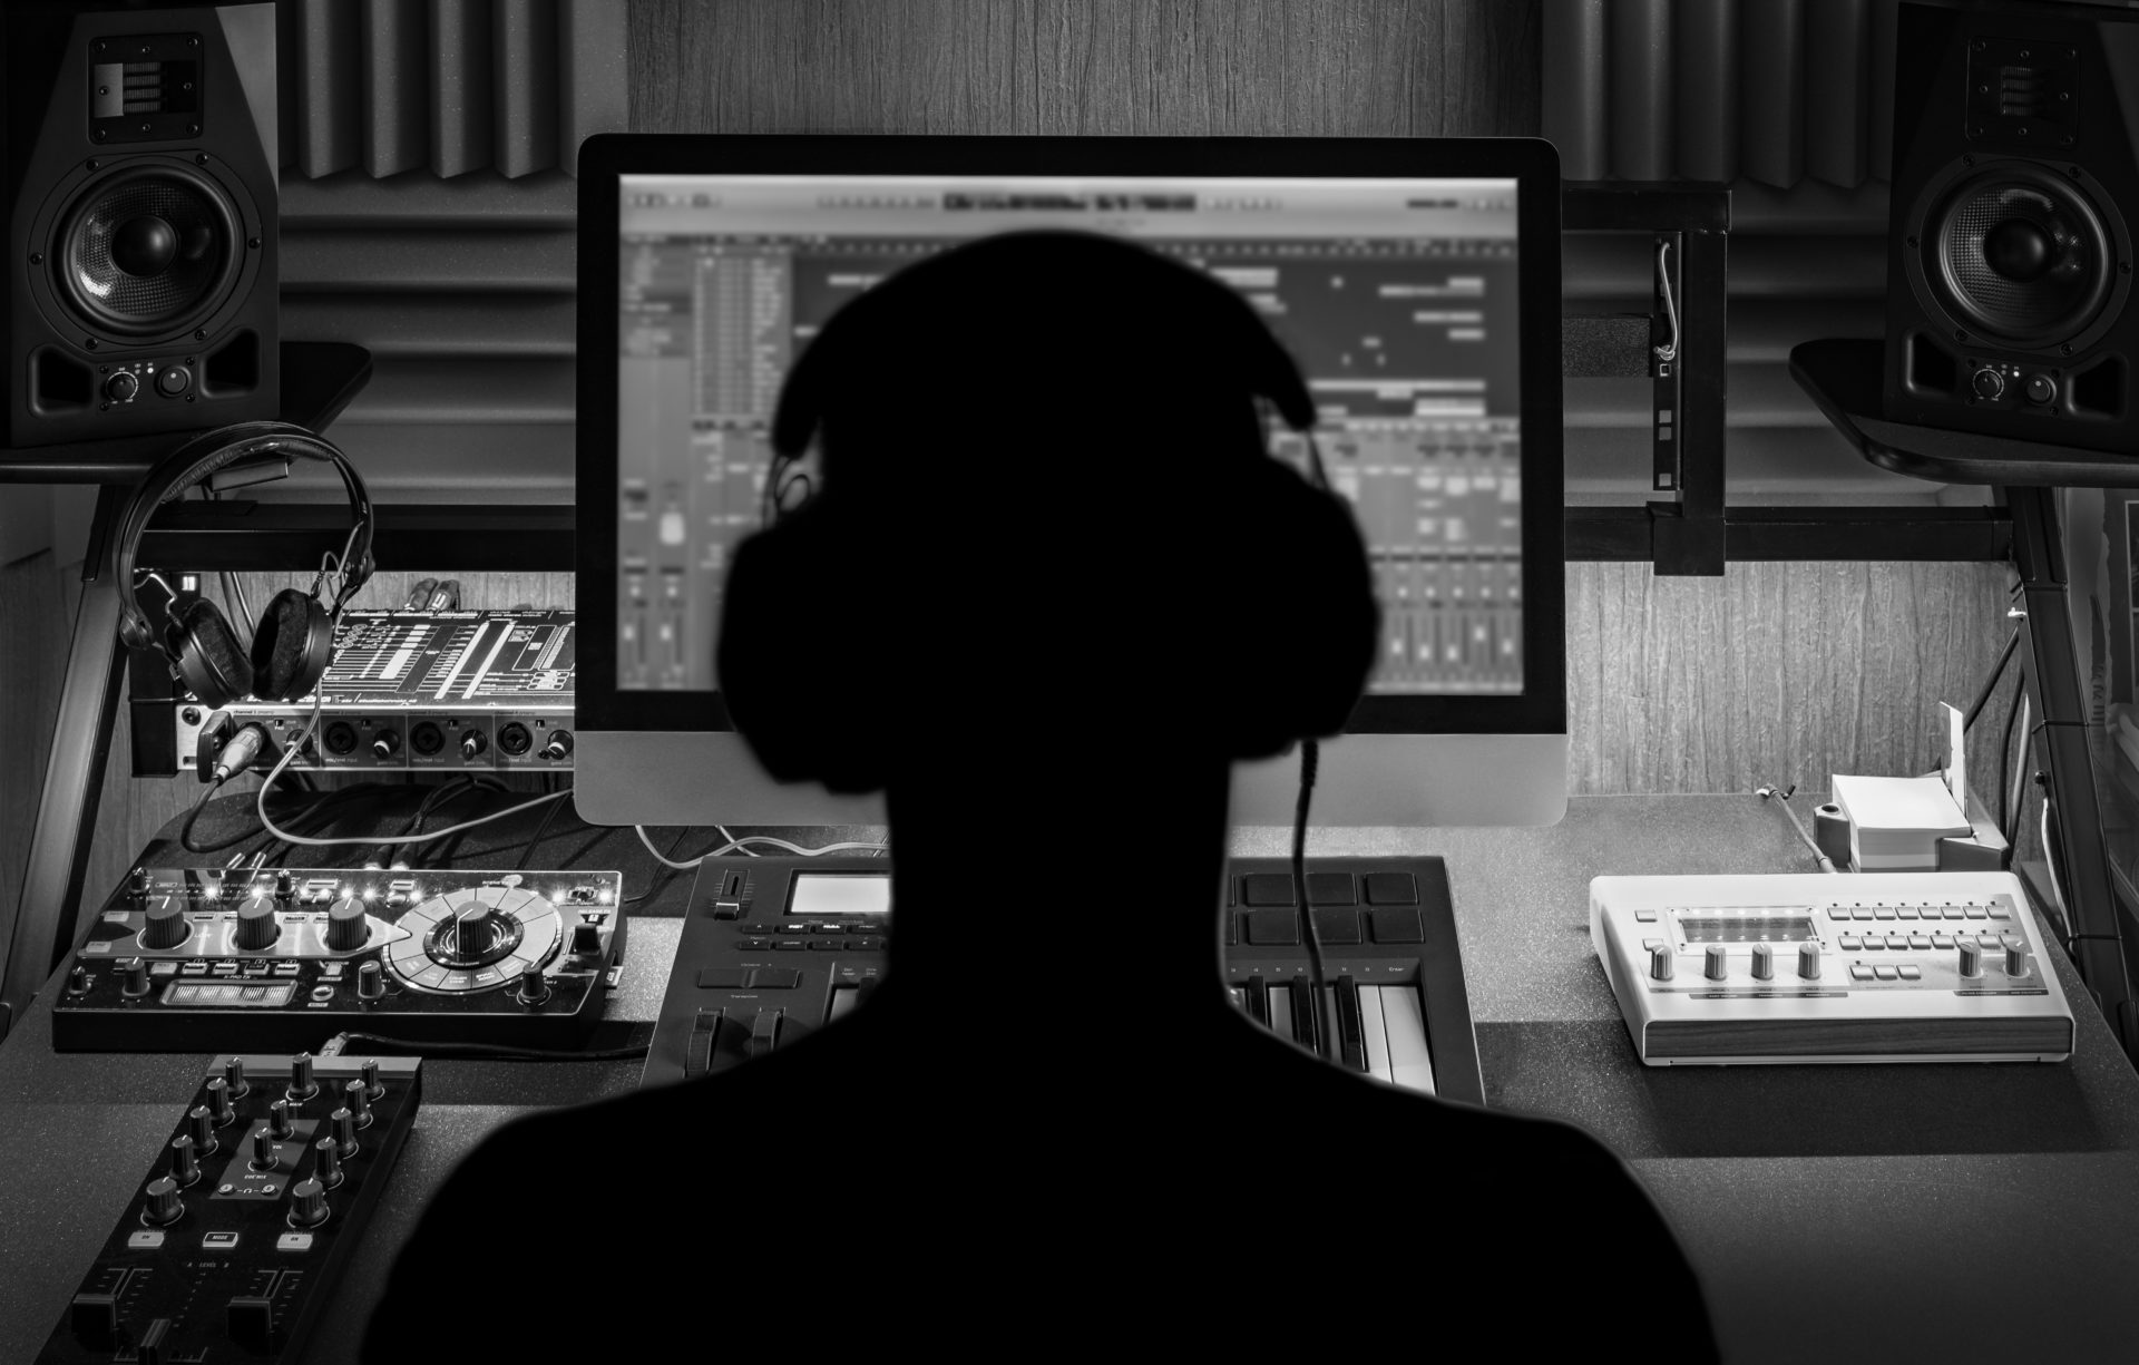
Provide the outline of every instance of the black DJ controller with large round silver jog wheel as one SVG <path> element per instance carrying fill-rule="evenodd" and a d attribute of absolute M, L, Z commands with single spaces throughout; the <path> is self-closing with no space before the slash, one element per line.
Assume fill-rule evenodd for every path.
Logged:
<path fill-rule="evenodd" d="M 336 1031 L 569 1048 L 625 958 L 618 873 L 137 866 L 51 1006 L 62 1053 Z"/>

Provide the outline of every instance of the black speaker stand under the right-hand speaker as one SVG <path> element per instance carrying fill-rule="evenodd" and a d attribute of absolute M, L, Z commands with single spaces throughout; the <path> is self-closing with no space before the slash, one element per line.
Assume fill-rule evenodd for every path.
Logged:
<path fill-rule="evenodd" d="M 2056 847 L 2045 856 L 2064 869 L 2056 881 L 2066 909 L 2064 950 L 2124 1055 L 2133 1057 L 2139 1016 L 2088 749 L 2086 682 L 2077 665 L 2056 490 L 2139 488 L 2139 458 L 1887 421 L 1878 415 L 1882 366 L 1882 340 L 1814 340 L 1790 349 L 1790 377 L 1865 460 L 1917 479 L 1991 486 L 2013 513 L 2028 697 L 2058 811 Z"/>

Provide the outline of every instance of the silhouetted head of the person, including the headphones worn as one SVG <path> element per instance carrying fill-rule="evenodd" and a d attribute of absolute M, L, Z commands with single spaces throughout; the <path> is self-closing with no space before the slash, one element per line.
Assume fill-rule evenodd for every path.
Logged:
<path fill-rule="evenodd" d="M 1256 310 L 1114 237 L 913 263 L 794 364 L 811 501 L 734 558 L 721 689 L 766 768 L 838 792 L 1003 725 L 1228 762 L 1333 734 L 1375 648 L 1365 548 L 1268 456 L 1313 400 Z"/>

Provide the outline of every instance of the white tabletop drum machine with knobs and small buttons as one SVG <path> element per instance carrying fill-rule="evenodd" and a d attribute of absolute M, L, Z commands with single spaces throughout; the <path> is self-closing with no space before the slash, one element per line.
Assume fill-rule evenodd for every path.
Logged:
<path fill-rule="evenodd" d="M 2013 873 L 1598 877 L 1589 937 L 1647 1065 L 2073 1053 Z"/>

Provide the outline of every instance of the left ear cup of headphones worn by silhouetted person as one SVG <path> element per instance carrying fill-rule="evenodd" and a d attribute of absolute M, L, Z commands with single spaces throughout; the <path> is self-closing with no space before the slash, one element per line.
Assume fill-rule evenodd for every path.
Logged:
<path fill-rule="evenodd" d="M 824 507 L 804 507 L 736 546 L 714 670 L 727 719 L 766 772 L 860 794 L 883 787 L 892 734 L 853 687 L 853 661 L 877 655 L 819 614 L 853 593 L 838 571 L 853 563 L 845 539 Z"/>

